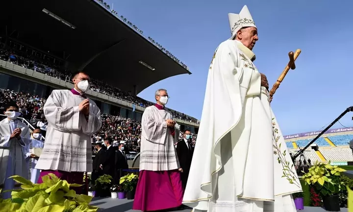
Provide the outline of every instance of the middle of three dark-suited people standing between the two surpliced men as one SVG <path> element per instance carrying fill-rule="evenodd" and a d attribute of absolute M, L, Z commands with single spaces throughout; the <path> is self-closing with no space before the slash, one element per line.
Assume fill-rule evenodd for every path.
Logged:
<path fill-rule="evenodd" d="M 101 162 L 101 169 L 103 170 L 103 174 L 107 174 L 113 177 L 114 179 L 114 174 L 115 174 L 115 149 L 112 146 L 112 139 L 111 138 L 105 138 L 104 139 L 104 144 L 106 146 L 106 150 L 103 155 L 103 159 Z"/>

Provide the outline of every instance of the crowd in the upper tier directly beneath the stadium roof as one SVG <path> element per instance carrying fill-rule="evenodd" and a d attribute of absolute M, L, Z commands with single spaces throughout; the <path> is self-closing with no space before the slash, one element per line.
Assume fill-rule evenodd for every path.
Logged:
<path fill-rule="evenodd" d="M 73 74 L 70 71 L 63 70 L 55 64 L 50 64 L 48 61 L 43 61 L 41 58 L 35 57 L 33 54 L 27 54 L 26 52 L 16 49 L 5 49 L 2 43 L 0 43 L 0 59 L 62 80 L 70 80 L 73 77 Z M 90 89 L 102 94 L 115 96 L 141 107 L 153 105 L 153 103 L 140 97 L 132 96 L 130 92 L 125 93 L 118 88 L 108 86 L 106 83 L 98 80 L 91 79 Z M 181 114 L 174 110 L 170 111 L 175 118 L 198 123 L 198 120 L 195 118 L 190 118 L 185 114 Z"/>

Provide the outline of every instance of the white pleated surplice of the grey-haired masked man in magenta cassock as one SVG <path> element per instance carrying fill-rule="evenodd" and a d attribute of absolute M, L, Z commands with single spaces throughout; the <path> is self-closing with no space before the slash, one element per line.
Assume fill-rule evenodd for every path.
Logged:
<path fill-rule="evenodd" d="M 172 134 L 166 120 L 173 119 L 166 110 L 155 106 L 145 109 L 142 115 L 140 170 L 166 171 L 180 167 L 174 141 L 179 135 L 178 129 Z"/>

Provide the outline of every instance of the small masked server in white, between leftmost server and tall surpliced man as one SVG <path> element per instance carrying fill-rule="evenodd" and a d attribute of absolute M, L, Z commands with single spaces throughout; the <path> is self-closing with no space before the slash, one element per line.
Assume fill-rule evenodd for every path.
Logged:
<path fill-rule="evenodd" d="M 37 183 L 40 175 L 40 169 L 35 168 L 35 166 L 37 165 L 39 155 L 35 155 L 33 150 L 34 148 L 43 149 L 44 141 L 41 139 L 42 134 L 40 129 L 33 130 L 32 136 L 33 139 L 31 139 L 31 142 L 25 148 L 25 159 L 30 173 L 29 179 L 32 183 Z"/>

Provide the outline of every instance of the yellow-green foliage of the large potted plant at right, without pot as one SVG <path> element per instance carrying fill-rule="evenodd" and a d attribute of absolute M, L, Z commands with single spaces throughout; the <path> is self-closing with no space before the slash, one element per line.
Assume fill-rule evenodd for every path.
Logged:
<path fill-rule="evenodd" d="M 304 173 L 302 179 L 305 183 L 312 185 L 321 196 L 337 195 L 341 190 L 345 190 L 345 185 L 341 181 L 341 172 L 346 171 L 337 165 L 322 164 L 316 162 L 309 168 L 308 173 Z"/>

